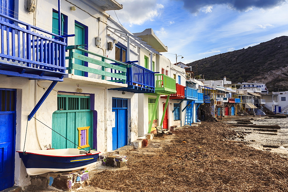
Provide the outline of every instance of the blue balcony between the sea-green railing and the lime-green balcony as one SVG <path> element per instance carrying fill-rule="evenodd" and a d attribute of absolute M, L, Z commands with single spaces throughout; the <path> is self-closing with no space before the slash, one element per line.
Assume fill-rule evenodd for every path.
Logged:
<path fill-rule="evenodd" d="M 128 91 L 132 93 L 155 93 L 154 72 L 135 63 L 127 63 L 130 64 L 127 66 L 126 73 L 126 84 L 128 84 L 128 87 L 114 88 L 113 90 Z"/>

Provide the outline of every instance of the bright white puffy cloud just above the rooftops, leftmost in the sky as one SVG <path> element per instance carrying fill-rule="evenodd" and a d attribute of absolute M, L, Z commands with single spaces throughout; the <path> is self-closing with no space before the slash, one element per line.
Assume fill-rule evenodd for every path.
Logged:
<path fill-rule="evenodd" d="M 164 5 L 156 3 L 155 0 L 118 0 L 118 3 L 123 4 L 123 9 L 116 11 L 120 22 L 130 26 L 153 21 L 164 8 Z M 116 18 L 114 11 L 106 12 Z"/>

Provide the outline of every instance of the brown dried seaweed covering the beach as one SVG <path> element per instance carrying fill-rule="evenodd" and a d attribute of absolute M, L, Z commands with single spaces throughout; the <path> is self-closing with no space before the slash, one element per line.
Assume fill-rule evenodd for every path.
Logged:
<path fill-rule="evenodd" d="M 117 191 L 288 191 L 287 158 L 225 140 L 236 135 L 227 124 L 202 122 L 173 133 L 166 137 L 175 139 L 153 148 L 154 155 L 128 152 L 133 158 L 127 170 L 104 170 L 90 185 Z"/>

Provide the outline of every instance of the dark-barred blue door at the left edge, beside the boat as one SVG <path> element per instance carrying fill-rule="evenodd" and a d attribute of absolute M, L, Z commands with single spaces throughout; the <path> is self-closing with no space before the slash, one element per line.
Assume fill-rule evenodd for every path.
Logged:
<path fill-rule="evenodd" d="M 0 89 L 0 191 L 14 185 L 16 91 Z"/>

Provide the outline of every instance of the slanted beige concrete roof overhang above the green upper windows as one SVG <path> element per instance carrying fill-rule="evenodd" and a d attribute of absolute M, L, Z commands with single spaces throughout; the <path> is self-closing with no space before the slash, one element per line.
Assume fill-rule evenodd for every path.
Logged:
<path fill-rule="evenodd" d="M 135 36 L 140 37 L 148 45 L 152 46 L 158 52 L 167 52 L 168 47 L 165 46 L 160 39 L 155 35 L 151 28 L 145 29 L 140 33 L 133 33 Z"/>

